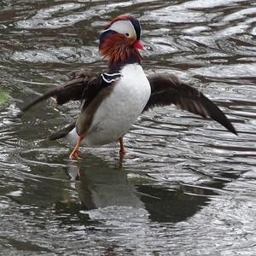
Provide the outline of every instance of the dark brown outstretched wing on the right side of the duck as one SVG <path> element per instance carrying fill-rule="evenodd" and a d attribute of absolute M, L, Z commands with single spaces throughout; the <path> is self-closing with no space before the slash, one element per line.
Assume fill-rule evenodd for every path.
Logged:
<path fill-rule="evenodd" d="M 151 96 L 143 111 L 149 108 L 176 105 L 178 108 L 212 118 L 237 135 L 236 129 L 224 113 L 201 91 L 180 82 L 177 77 L 167 73 L 148 75 Z"/>

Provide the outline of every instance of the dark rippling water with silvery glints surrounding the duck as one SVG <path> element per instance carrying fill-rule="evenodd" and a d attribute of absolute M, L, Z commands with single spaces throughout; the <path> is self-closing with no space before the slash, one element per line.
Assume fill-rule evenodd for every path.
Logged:
<path fill-rule="evenodd" d="M 125 136 L 123 161 L 113 145 L 84 148 L 76 163 L 67 143 L 44 137 L 79 105 L 9 119 L 70 70 L 101 72 L 99 32 L 124 13 L 142 21 L 146 73 L 202 90 L 239 137 L 158 108 Z M 1 255 L 255 255 L 255 24 L 254 0 L 2 0 Z"/>

